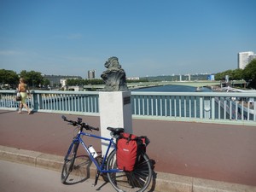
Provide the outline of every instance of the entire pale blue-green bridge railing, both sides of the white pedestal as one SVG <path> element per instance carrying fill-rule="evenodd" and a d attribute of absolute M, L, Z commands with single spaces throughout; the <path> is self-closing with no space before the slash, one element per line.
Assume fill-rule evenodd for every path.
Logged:
<path fill-rule="evenodd" d="M 98 99 L 98 91 L 33 90 L 26 102 L 38 112 L 99 115 Z M 256 125 L 255 92 L 131 91 L 131 108 L 139 119 Z M 0 109 L 18 109 L 15 90 L 0 90 Z"/>

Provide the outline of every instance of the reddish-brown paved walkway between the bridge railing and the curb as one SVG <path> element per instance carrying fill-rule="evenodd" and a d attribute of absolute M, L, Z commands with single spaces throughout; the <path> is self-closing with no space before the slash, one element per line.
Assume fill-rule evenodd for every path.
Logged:
<path fill-rule="evenodd" d="M 100 117 L 82 118 L 100 126 Z M 147 154 L 155 161 L 156 172 L 256 186 L 256 125 L 133 119 L 133 131 L 150 139 Z M 72 138 L 73 127 L 61 114 L 0 110 L 2 146 L 63 156 Z M 88 143 L 100 150 L 99 142 L 89 139 Z"/>

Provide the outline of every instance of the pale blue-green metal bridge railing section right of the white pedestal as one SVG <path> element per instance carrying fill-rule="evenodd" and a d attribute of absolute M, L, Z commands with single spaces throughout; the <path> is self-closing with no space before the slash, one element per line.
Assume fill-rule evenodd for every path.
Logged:
<path fill-rule="evenodd" d="M 256 125 L 255 92 L 132 92 L 132 99 L 134 117 Z"/>

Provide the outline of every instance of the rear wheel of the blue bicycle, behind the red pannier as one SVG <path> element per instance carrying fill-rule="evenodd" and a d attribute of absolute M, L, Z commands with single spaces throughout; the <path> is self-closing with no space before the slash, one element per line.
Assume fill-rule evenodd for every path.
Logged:
<path fill-rule="evenodd" d="M 139 155 L 132 172 L 108 172 L 108 180 L 117 191 L 143 192 L 148 189 L 153 171 L 148 155 L 144 152 Z M 117 169 L 116 150 L 113 150 L 107 160 L 107 170 Z"/>

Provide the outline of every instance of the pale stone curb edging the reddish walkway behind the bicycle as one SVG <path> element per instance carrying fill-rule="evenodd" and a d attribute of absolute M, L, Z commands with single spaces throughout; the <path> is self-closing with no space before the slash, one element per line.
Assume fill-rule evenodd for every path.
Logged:
<path fill-rule="evenodd" d="M 44 154 L 20 148 L 9 148 L 0 145 L 0 160 L 8 160 L 29 166 L 36 166 L 60 172 L 63 157 Z M 85 171 L 88 169 L 84 169 Z M 94 179 L 96 167 L 90 166 L 87 177 Z M 102 179 L 102 178 L 101 178 Z M 186 177 L 164 172 L 155 172 L 151 183 L 151 191 L 161 192 L 253 192 L 256 186 L 236 183 L 224 183 L 196 177 Z"/>

